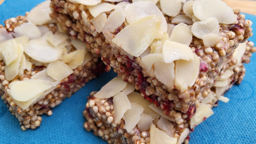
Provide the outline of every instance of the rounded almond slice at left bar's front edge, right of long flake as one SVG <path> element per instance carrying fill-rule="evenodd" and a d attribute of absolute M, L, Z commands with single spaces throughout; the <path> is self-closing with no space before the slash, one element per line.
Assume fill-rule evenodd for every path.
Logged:
<path fill-rule="evenodd" d="M 74 71 L 69 68 L 68 65 L 61 61 L 52 62 L 47 67 L 47 74 L 57 81 L 63 80 L 73 72 Z"/>

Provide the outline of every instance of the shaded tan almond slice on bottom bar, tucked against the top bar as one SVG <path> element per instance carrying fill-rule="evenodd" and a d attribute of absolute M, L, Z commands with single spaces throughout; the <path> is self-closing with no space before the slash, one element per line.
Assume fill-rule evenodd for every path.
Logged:
<path fill-rule="evenodd" d="M 140 95 L 140 93 L 131 92 L 128 95 L 128 99 L 129 99 L 130 102 L 134 102 L 134 103 L 137 103 L 137 104 L 141 105 L 144 108 L 143 113 L 145 113 L 149 116 L 152 116 L 153 119 L 156 119 L 156 118 L 160 117 L 159 114 L 157 114 L 154 110 L 152 110 L 151 108 L 148 107 L 149 105 L 151 105 L 151 103 L 148 100 L 144 99 Z"/>

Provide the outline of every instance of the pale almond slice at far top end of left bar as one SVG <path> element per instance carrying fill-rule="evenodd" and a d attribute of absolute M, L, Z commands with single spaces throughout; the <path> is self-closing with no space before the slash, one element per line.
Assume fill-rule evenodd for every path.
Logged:
<path fill-rule="evenodd" d="M 51 1 L 47 0 L 34 7 L 27 15 L 28 21 L 35 25 L 44 25 L 50 22 L 52 20 L 49 16 L 49 14 L 52 13 L 50 3 Z"/>

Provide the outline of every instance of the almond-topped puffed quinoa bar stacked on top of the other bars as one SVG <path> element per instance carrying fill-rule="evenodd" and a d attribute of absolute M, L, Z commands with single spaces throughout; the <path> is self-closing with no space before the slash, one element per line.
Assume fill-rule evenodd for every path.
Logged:
<path fill-rule="evenodd" d="M 252 22 L 220 0 L 172 2 L 52 0 L 50 16 L 166 115 L 191 117 L 218 77 L 239 71 L 245 48 L 250 62 Z"/>

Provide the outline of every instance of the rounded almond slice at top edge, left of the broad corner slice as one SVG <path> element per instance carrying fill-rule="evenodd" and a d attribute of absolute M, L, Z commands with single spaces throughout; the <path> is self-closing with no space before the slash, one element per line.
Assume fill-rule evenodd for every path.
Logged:
<path fill-rule="evenodd" d="M 166 15 L 175 17 L 181 9 L 181 0 L 160 0 L 162 12 Z"/>

